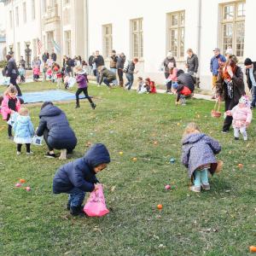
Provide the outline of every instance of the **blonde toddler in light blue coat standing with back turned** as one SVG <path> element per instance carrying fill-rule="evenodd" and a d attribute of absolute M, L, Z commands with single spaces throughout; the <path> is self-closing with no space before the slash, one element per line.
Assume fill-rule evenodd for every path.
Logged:
<path fill-rule="evenodd" d="M 34 135 L 34 127 L 29 116 L 27 108 L 20 108 L 19 115 L 14 125 L 15 143 L 17 144 L 17 154 L 21 154 L 22 144 L 26 144 L 26 154 L 33 154 L 30 150 L 32 136 Z"/>

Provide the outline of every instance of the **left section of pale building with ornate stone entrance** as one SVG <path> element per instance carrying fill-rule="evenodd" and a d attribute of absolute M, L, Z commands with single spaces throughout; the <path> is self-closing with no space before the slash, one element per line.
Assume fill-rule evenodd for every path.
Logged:
<path fill-rule="evenodd" d="M 87 2 L 83 0 L 2 0 L 7 16 L 7 51 L 15 59 L 31 49 L 31 61 L 45 50 L 62 56 L 87 55 Z M 42 47 L 38 46 L 38 42 Z M 55 47 L 57 45 L 57 48 Z"/>

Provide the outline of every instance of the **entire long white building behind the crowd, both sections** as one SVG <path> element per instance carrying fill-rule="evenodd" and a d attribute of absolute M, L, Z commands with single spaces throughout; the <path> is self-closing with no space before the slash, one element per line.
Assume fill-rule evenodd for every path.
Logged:
<path fill-rule="evenodd" d="M 186 49 L 199 56 L 201 88 L 211 88 L 209 68 L 212 49 L 224 54 L 231 47 L 240 62 L 256 59 L 253 34 L 255 0 L 0 0 L 6 11 L 7 51 L 15 58 L 39 55 L 38 39 L 51 53 L 53 40 L 63 55 L 81 55 L 88 60 L 99 49 L 106 58 L 110 51 L 138 57 L 138 76 L 164 83 L 160 63 L 171 50 L 177 67 L 184 68 Z M 41 55 L 42 55 L 41 52 Z M 240 64 L 241 64 L 240 63 Z"/>

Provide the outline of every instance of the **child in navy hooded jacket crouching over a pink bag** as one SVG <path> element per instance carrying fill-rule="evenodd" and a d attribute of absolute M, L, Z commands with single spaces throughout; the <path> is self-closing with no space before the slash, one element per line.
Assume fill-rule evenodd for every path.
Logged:
<path fill-rule="evenodd" d="M 108 148 L 101 143 L 93 145 L 84 157 L 67 163 L 55 173 L 53 192 L 67 193 L 67 210 L 73 216 L 84 216 L 82 206 L 85 192 L 98 189 L 96 173 L 102 172 L 110 163 Z"/>

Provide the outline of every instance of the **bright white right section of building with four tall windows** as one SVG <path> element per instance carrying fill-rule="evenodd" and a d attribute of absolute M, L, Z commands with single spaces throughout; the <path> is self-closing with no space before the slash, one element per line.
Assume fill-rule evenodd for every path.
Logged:
<path fill-rule="evenodd" d="M 231 47 L 240 62 L 256 59 L 255 0 L 89 0 L 89 51 L 111 49 L 139 58 L 138 76 L 163 84 L 160 63 L 171 50 L 184 68 L 186 50 L 199 56 L 201 88 L 211 89 L 210 60 L 216 47 Z"/>

